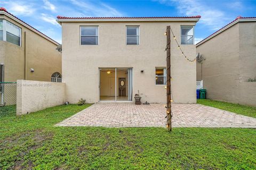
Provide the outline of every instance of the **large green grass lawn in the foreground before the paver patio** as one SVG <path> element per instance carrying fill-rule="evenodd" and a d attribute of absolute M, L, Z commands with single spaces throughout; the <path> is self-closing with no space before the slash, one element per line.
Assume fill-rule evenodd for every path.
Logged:
<path fill-rule="evenodd" d="M 0 169 L 256 169 L 254 129 L 53 126 L 88 106 L 1 107 Z"/>

